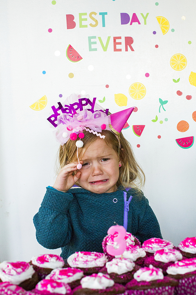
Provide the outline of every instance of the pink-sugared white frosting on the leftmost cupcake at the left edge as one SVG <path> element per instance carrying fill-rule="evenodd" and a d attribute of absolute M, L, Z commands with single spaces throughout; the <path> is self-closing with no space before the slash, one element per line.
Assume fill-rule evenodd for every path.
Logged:
<path fill-rule="evenodd" d="M 17 262 L 18 264 L 20 262 Z M 14 263 L 3 261 L 0 263 L 0 279 L 2 282 L 10 282 L 14 285 L 19 285 L 20 283 L 32 278 L 33 273 L 35 273 L 33 266 L 26 263 L 26 269 L 23 271 L 22 267 L 14 267 Z"/>

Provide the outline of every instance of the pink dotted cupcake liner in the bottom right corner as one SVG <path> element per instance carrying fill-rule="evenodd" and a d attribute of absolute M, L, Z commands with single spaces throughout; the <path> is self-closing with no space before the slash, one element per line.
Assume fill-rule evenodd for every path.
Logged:
<path fill-rule="evenodd" d="M 196 276 L 182 278 L 175 287 L 175 295 L 196 295 Z"/>

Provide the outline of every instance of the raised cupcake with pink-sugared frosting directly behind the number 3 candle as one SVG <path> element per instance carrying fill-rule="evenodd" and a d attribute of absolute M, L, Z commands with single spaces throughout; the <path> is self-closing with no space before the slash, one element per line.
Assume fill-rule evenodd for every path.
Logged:
<path fill-rule="evenodd" d="M 106 246 L 111 245 L 115 249 L 118 249 L 118 243 L 114 241 L 114 238 L 117 237 L 117 235 L 118 233 L 115 232 L 114 235 L 107 235 L 103 239 L 103 242 L 102 242 L 103 253 L 105 255 L 108 255 L 108 258 L 111 258 L 111 256 L 107 253 Z M 134 237 L 130 232 L 126 232 L 125 242 L 126 242 L 126 250 L 123 252 L 124 258 L 129 258 L 126 252 L 129 252 L 131 246 L 138 246 L 139 248 L 141 247 L 140 241 L 136 237 Z M 115 258 L 118 258 L 118 257 L 119 257 L 118 255 L 115 256 Z M 113 258 L 114 256 L 112 256 L 112 259 Z"/>

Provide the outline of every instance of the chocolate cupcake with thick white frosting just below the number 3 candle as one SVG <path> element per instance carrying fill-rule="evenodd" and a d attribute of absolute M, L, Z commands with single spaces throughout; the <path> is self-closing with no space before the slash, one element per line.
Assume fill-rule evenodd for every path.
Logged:
<path fill-rule="evenodd" d="M 115 283 L 125 284 L 133 279 L 133 274 L 139 268 L 128 258 L 113 258 L 111 261 L 106 262 L 100 272 L 109 274 Z"/>

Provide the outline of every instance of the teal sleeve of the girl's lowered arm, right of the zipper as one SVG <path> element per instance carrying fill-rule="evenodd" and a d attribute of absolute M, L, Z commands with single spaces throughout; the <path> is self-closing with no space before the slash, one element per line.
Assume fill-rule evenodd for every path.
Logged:
<path fill-rule="evenodd" d="M 140 203 L 138 232 L 136 236 L 139 238 L 141 243 L 153 237 L 163 239 L 158 220 L 145 196 L 143 196 Z"/>

